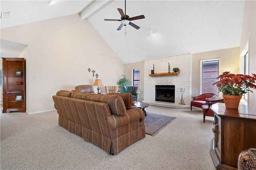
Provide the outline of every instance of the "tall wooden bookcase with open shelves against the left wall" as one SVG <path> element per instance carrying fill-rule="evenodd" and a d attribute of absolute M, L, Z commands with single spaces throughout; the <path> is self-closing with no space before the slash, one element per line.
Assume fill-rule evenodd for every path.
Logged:
<path fill-rule="evenodd" d="M 3 59 L 3 113 L 26 112 L 24 58 Z"/>

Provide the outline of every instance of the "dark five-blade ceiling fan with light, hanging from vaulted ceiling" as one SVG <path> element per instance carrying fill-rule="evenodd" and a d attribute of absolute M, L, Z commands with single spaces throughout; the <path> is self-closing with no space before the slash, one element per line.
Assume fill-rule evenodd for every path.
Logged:
<path fill-rule="evenodd" d="M 130 18 L 128 15 L 126 15 L 126 0 L 124 1 L 124 11 L 120 8 L 117 8 L 118 12 L 121 15 L 121 20 L 114 20 L 114 19 L 104 19 L 104 21 L 121 21 L 120 26 L 117 28 L 117 30 L 121 30 L 123 26 L 126 26 L 127 24 L 131 25 L 132 27 L 136 28 L 136 29 L 140 29 L 140 27 L 138 25 L 135 25 L 134 23 L 132 23 L 131 21 L 133 20 L 139 20 L 139 19 L 144 19 L 145 16 L 141 15 L 141 16 L 136 16 L 136 17 L 132 17 Z"/>

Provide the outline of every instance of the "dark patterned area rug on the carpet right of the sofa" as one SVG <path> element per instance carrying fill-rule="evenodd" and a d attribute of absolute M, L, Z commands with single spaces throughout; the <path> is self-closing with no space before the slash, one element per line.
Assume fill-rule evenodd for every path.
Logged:
<path fill-rule="evenodd" d="M 147 113 L 147 116 L 145 117 L 144 120 L 146 134 L 155 136 L 166 125 L 171 123 L 175 118 L 176 117 Z"/>

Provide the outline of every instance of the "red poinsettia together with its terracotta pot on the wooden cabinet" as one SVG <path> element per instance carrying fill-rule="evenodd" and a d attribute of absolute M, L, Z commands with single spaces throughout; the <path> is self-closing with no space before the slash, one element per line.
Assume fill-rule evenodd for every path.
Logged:
<path fill-rule="evenodd" d="M 215 82 L 219 92 L 222 92 L 226 108 L 238 109 L 240 100 L 243 94 L 252 92 L 251 89 L 256 89 L 256 74 L 231 74 L 230 72 L 223 72 L 216 79 Z"/>

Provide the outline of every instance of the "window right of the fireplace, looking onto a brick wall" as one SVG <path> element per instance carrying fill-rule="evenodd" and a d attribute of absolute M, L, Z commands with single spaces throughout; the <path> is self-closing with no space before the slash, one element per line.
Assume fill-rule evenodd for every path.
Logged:
<path fill-rule="evenodd" d="M 214 93 L 218 96 L 218 88 L 212 85 L 216 82 L 216 77 L 219 76 L 219 59 L 211 61 L 201 61 L 201 78 L 200 78 L 200 92 Z"/>

